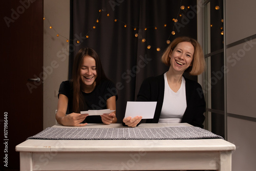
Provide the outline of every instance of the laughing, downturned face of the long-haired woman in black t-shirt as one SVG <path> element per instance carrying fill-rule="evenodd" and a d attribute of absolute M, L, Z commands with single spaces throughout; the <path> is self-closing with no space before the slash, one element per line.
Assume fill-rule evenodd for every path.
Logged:
<path fill-rule="evenodd" d="M 96 62 L 91 56 L 84 56 L 82 66 L 80 69 L 80 79 L 85 88 L 92 88 L 95 86 L 95 79 L 97 78 Z"/>

